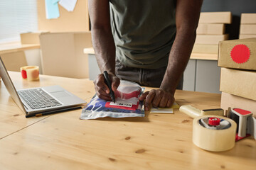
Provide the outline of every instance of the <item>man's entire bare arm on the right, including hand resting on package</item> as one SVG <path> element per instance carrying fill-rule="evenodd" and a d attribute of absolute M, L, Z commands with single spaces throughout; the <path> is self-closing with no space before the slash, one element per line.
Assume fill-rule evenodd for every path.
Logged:
<path fill-rule="evenodd" d="M 145 100 L 145 111 L 153 107 L 169 108 L 174 103 L 174 93 L 196 40 L 196 28 L 203 0 L 177 0 L 176 38 L 171 47 L 169 63 L 161 86 L 146 91 L 139 100 Z"/>

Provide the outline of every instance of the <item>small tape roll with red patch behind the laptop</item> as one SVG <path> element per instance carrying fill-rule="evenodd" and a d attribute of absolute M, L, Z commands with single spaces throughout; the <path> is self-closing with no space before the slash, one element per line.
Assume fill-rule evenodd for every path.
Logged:
<path fill-rule="evenodd" d="M 39 67 L 38 66 L 24 66 L 21 67 L 21 77 L 28 81 L 34 81 L 39 79 Z"/>

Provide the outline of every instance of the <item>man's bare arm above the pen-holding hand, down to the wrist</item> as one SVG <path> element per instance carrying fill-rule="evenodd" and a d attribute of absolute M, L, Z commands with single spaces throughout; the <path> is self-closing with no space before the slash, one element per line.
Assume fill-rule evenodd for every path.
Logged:
<path fill-rule="evenodd" d="M 100 71 L 114 74 L 115 45 L 110 26 L 110 4 L 108 0 L 89 0 L 92 26 L 92 46 Z"/>

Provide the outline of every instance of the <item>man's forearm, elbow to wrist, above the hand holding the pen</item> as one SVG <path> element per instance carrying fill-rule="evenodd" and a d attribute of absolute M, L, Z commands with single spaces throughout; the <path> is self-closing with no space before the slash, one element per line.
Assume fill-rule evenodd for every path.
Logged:
<path fill-rule="evenodd" d="M 115 68 L 115 46 L 111 30 L 104 28 L 92 29 L 92 45 L 100 71 L 114 74 Z"/>

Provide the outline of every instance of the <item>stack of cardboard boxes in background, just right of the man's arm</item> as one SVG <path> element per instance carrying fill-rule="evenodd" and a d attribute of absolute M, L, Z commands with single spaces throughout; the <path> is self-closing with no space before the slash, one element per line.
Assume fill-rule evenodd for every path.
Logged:
<path fill-rule="evenodd" d="M 231 19 L 231 12 L 201 13 L 192 52 L 217 55 L 218 42 L 228 40 L 228 34 L 225 34 L 225 24 L 230 24 Z"/>

